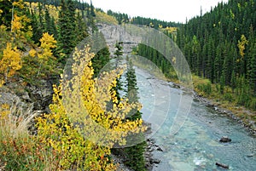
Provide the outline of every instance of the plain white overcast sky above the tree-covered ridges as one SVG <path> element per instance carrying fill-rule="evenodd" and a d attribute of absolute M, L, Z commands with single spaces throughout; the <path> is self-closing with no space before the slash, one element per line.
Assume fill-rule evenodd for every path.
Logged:
<path fill-rule="evenodd" d="M 228 2 L 228 0 L 92 0 L 92 4 L 105 12 L 111 9 L 131 17 L 143 16 L 184 23 L 186 17 L 189 20 L 199 15 L 201 7 L 204 14 L 210 11 L 211 6 L 214 7 L 221 1 Z M 90 3 L 90 0 L 84 2 Z"/>

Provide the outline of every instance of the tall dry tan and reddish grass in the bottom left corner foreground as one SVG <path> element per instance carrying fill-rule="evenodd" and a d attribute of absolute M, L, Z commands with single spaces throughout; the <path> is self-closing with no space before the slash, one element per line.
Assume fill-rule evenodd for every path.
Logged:
<path fill-rule="evenodd" d="M 0 105 L 0 170 L 55 170 L 55 153 L 28 130 L 37 115 L 20 101 Z"/>

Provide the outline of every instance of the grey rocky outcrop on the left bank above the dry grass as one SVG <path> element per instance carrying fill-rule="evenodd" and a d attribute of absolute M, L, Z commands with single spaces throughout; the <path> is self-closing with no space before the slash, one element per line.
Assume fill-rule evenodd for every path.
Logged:
<path fill-rule="evenodd" d="M 49 112 L 52 100 L 51 80 L 40 80 L 38 85 L 23 85 L 20 80 L 0 88 L 0 105 L 16 106 L 20 112 Z"/>

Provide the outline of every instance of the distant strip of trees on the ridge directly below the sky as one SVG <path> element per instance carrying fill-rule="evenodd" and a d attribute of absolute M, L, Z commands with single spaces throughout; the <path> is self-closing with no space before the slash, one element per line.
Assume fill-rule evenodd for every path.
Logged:
<path fill-rule="evenodd" d="M 112 10 L 108 10 L 107 14 L 112 15 L 119 21 L 119 25 L 122 23 L 130 23 L 135 25 L 141 26 L 149 26 L 155 29 L 158 28 L 166 28 L 166 27 L 178 27 L 181 26 L 181 23 L 175 23 L 171 21 L 164 21 L 164 20 L 157 20 L 157 19 L 150 19 L 145 17 L 129 17 L 128 14 L 124 13 L 116 13 Z"/>

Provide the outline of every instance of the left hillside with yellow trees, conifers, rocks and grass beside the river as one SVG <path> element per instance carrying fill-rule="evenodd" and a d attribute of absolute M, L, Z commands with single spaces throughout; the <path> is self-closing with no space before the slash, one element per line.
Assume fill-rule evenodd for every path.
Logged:
<path fill-rule="evenodd" d="M 140 104 L 137 100 L 129 102 L 127 94 L 119 97 L 115 88 L 120 70 L 104 72 L 102 80 L 95 79 L 110 60 L 104 39 L 101 43 L 105 48 L 96 54 L 92 52 L 98 44 L 90 44 L 91 48 L 86 46 L 91 43 L 87 37 L 102 37 L 96 22 L 118 23 L 91 3 L 0 1 L 1 169 L 115 170 L 118 163 L 111 154 L 113 145 L 125 145 L 123 138 L 127 134 L 144 132 Z M 75 48 L 77 46 L 79 48 Z M 73 70 L 69 71 L 70 68 Z M 134 71 L 128 71 L 127 83 L 133 88 L 136 86 Z M 79 80 L 83 82 L 82 87 L 77 84 Z M 97 87 L 99 82 L 102 83 L 100 88 Z M 74 93 L 75 88 L 80 93 L 69 99 L 65 91 Z M 77 104 L 79 95 L 89 113 L 79 111 L 83 109 Z M 73 103 L 66 103 L 68 100 Z M 106 101 L 108 109 L 102 107 Z M 74 107 L 75 104 L 80 106 Z M 137 112 L 136 118 L 127 117 L 131 111 Z M 84 117 L 72 117 L 76 112 Z M 87 114 L 90 117 L 86 117 Z M 81 120 L 72 122 L 70 117 Z M 88 122 L 96 122 L 100 128 L 108 130 L 109 137 L 104 130 L 100 135 L 101 129 L 91 129 Z M 130 167 L 144 170 L 144 144 L 136 148 L 141 152 Z M 132 157 L 128 150 L 125 155 Z"/>

